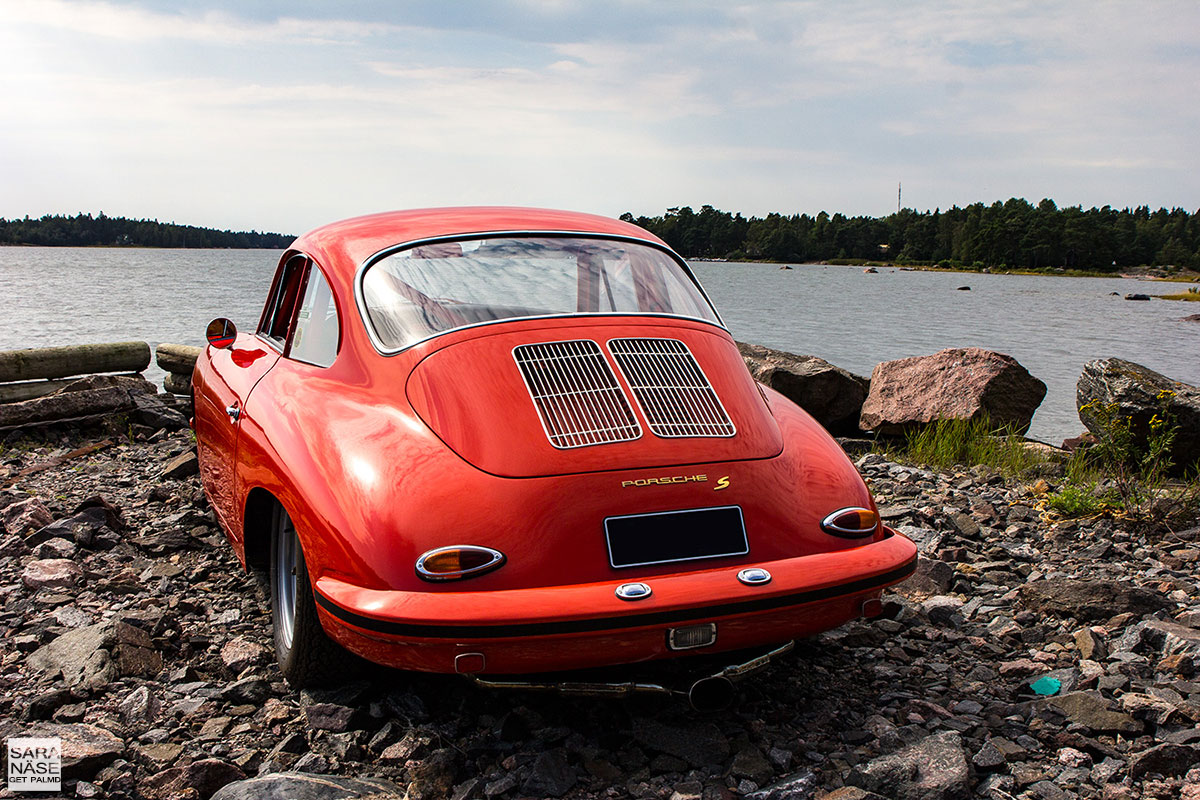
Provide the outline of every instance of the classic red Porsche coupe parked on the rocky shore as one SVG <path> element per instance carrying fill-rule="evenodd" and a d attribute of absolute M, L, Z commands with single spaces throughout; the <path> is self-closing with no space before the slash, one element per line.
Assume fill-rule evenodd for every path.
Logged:
<path fill-rule="evenodd" d="M 293 685 L 344 650 L 544 673 L 744 650 L 878 609 L 916 548 L 756 384 L 686 263 L 632 224 L 433 209 L 283 254 L 193 377 L 205 492 L 269 571 Z"/>

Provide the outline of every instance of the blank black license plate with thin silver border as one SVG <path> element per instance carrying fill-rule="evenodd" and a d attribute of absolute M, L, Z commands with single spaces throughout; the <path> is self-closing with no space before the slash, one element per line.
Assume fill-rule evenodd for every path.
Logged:
<path fill-rule="evenodd" d="M 608 517 L 604 529 L 608 539 L 608 563 L 614 567 L 750 552 L 738 506 Z"/>

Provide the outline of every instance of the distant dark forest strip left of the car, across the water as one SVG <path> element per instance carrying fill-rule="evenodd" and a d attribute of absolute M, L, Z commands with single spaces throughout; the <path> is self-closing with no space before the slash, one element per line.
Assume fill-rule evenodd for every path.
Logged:
<path fill-rule="evenodd" d="M 50 247 L 264 247 L 283 249 L 295 236 L 257 230 L 214 230 L 178 225 L 157 219 L 126 219 L 90 213 L 59 215 L 37 219 L 0 218 L 0 245 L 46 245 Z"/>

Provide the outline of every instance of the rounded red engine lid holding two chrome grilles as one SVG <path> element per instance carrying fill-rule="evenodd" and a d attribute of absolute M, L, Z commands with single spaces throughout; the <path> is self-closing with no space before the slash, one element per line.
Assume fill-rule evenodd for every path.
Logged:
<path fill-rule="evenodd" d="M 536 477 L 782 451 L 724 331 L 574 321 L 490 331 L 424 359 L 406 387 L 426 425 L 481 470 Z"/>

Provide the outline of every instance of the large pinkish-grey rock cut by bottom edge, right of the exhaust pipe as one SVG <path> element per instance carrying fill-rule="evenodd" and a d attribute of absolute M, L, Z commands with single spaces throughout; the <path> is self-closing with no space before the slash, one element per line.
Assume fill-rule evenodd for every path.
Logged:
<path fill-rule="evenodd" d="M 950 732 L 854 768 L 846 783 L 894 800 L 958 800 L 967 794 L 968 774 L 962 736 Z"/>

